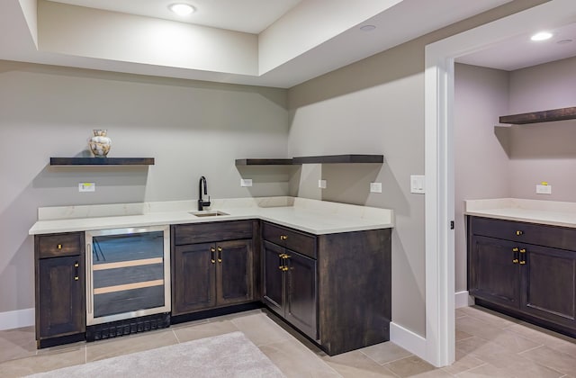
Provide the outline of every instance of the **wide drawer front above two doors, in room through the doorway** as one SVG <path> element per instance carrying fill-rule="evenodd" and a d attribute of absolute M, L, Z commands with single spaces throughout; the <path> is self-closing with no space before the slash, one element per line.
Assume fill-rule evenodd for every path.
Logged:
<path fill-rule="evenodd" d="M 576 250 L 576 229 L 480 217 L 470 217 L 469 222 L 473 235 Z"/>

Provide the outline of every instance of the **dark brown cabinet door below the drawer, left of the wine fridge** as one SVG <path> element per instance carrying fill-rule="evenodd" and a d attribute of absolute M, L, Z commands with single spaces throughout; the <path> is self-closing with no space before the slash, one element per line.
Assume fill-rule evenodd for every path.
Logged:
<path fill-rule="evenodd" d="M 40 338 L 85 332 L 84 262 L 80 256 L 42 258 L 38 264 Z"/>

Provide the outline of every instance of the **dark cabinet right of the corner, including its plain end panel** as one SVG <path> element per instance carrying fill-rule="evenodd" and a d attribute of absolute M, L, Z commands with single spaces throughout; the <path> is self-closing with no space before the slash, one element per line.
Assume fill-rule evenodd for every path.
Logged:
<path fill-rule="evenodd" d="M 263 222 L 263 301 L 330 356 L 389 340 L 391 234 L 315 236 Z"/>

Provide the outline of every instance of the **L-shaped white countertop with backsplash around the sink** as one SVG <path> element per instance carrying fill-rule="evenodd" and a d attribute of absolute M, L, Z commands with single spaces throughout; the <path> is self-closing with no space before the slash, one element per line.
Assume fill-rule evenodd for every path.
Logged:
<path fill-rule="evenodd" d="M 38 221 L 29 233 L 94 229 L 121 229 L 222 220 L 269 220 L 293 229 L 323 235 L 393 227 L 393 211 L 338 202 L 294 197 L 260 197 L 212 200 L 209 211 L 228 215 L 196 217 L 196 201 L 116 203 L 59 206 L 38 209 Z"/>

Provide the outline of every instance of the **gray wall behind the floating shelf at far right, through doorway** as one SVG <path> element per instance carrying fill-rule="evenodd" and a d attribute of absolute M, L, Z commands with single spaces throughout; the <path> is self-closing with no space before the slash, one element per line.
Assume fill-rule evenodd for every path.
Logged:
<path fill-rule="evenodd" d="M 576 104 L 576 58 L 510 73 L 509 113 L 537 112 Z M 512 126 L 510 189 L 518 198 L 576 201 L 576 120 Z M 552 194 L 536 194 L 546 181 Z"/>

